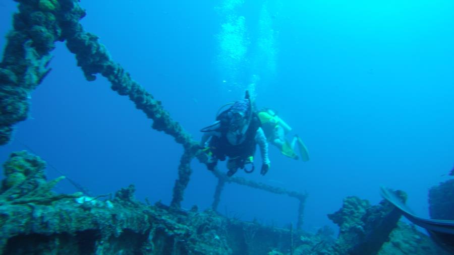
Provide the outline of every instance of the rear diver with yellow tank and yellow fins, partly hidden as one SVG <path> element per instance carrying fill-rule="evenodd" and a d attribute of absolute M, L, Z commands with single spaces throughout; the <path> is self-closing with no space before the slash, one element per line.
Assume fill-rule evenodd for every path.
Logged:
<path fill-rule="evenodd" d="M 305 162 L 309 161 L 307 148 L 298 135 L 293 137 L 292 143 L 289 143 L 289 141 L 286 140 L 285 137 L 292 131 L 292 127 L 279 118 L 274 110 L 263 108 L 259 111 L 258 117 L 266 138 L 271 144 L 276 146 L 283 155 L 298 160 L 299 157 L 295 153 L 295 145 L 298 144 L 301 160 Z"/>

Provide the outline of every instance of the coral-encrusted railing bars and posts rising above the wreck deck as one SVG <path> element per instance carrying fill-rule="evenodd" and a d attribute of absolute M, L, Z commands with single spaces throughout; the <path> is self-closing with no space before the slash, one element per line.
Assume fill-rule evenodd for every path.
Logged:
<path fill-rule="evenodd" d="M 178 167 L 178 179 L 173 189 L 172 207 L 179 208 L 184 191 L 189 183 L 192 170 L 190 163 L 194 158 L 205 163 L 206 157 L 200 151 L 198 142 L 192 140 L 177 121 L 173 120 L 156 100 L 140 84 L 135 82 L 123 67 L 113 61 L 104 45 L 98 42 L 95 34 L 84 31 L 79 20 L 85 11 L 77 1 L 18 1 L 20 12 L 14 15 L 14 29 L 8 35 L 4 59 L 0 65 L 0 144 L 11 139 L 13 125 L 25 120 L 29 102 L 27 95 L 36 88 L 50 72 L 47 67 L 51 51 L 58 41 L 66 41 L 68 49 L 76 55 L 77 65 L 81 67 L 87 81 L 94 81 L 101 74 L 111 83 L 111 89 L 119 95 L 128 96 L 137 109 L 142 110 L 153 120 L 152 128 L 175 138 L 184 148 Z M 214 193 L 213 209 L 217 208 L 222 188 L 226 182 L 235 182 L 267 192 L 289 195 L 299 200 L 298 224 L 303 224 L 305 193 L 289 191 L 244 178 L 228 178 L 214 171 L 218 185 Z"/>

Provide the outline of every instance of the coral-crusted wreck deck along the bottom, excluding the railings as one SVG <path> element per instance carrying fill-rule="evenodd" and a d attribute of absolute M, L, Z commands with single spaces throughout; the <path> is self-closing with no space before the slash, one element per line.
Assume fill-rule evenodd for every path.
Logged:
<path fill-rule="evenodd" d="M 135 187 L 102 201 L 82 193 L 56 194 L 61 178 L 46 181 L 45 162 L 26 151 L 4 164 L 0 193 L 3 254 L 441 254 L 428 236 L 405 223 L 385 202 L 349 197 L 330 215 L 341 227 L 294 232 L 220 216 L 138 202 Z M 10 185 L 9 178 L 20 181 Z M 396 218 L 397 217 L 397 218 Z M 392 232 L 391 232 L 392 230 Z M 424 253 L 429 252 L 429 253 Z"/>

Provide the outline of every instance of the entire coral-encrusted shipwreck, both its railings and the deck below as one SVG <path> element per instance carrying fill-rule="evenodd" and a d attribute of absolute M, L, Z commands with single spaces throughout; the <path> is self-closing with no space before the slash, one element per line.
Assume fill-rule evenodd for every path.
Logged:
<path fill-rule="evenodd" d="M 14 125 L 27 118 L 27 96 L 50 72 L 55 43 L 65 41 L 88 81 L 104 76 L 111 89 L 128 96 L 153 120 L 152 128 L 174 137 L 184 148 L 171 205 L 143 204 L 134 186 L 101 201 L 82 193 L 56 194 L 47 181 L 45 162 L 26 151 L 4 164 L 0 189 L 0 252 L 4 254 L 445 254 L 383 201 L 371 206 L 356 197 L 329 217 L 341 227 L 337 239 L 327 228 L 301 231 L 306 193 L 273 187 L 215 170 L 218 184 L 212 209 L 180 208 L 190 181 L 190 163 L 206 162 L 198 143 L 172 119 L 128 72 L 113 61 L 98 37 L 79 20 L 85 11 L 77 0 L 16 0 L 18 12 L 0 63 L 0 145 L 11 140 Z M 235 182 L 299 200 L 296 229 L 242 222 L 216 213 L 224 185 Z M 402 195 L 403 196 L 403 195 Z M 404 196 L 403 196 L 404 197 Z M 388 240 L 389 236 L 392 237 Z M 391 253 L 388 253 L 391 252 Z"/>

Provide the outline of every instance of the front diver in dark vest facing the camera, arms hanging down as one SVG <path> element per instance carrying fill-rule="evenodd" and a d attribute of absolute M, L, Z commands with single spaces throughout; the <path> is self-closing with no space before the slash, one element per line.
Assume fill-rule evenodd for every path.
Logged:
<path fill-rule="evenodd" d="M 265 175 L 270 168 L 268 143 L 260 127 L 260 120 L 252 110 L 249 92 L 246 91 L 243 100 L 226 105 L 232 106 L 217 114 L 216 122 L 200 130 L 204 132 L 200 145 L 206 148 L 208 155 L 211 156 L 207 163 L 208 170 L 214 170 L 218 160 L 224 161 L 229 157 L 228 176 L 234 175 L 239 168 L 247 173 L 253 172 L 255 169 L 253 156 L 258 144 L 262 157 L 260 173 Z M 252 165 L 250 170 L 246 169 L 248 164 Z"/>

